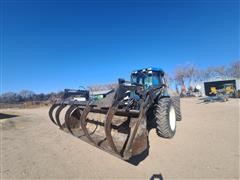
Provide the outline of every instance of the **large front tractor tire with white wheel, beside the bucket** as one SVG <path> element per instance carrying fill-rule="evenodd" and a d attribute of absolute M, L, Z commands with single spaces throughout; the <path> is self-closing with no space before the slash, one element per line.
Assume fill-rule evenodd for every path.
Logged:
<path fill-rule="evenodd" d="M 176 132 L 176 111 L 172 99 L 159 99 L 155 104 L 154 116 L 157 135 L 172 138 Z"/>

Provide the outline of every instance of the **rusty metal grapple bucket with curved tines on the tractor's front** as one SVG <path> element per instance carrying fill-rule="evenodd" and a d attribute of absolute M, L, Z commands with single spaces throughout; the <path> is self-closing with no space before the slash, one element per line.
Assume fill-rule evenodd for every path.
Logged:
<path fill-rule="evenodd" d="M 129 90 L 131 87 L 119 86 L 114 93 L 97 103 L 87 101 L 70 106 L 53 105 L 55 108 L 50 110 L 57 109 L 56 116 L 55 119 L 50 118 L 65 132 L 128 160 L 148 148 L 147 101 L 135 109 L 123 106 L 122 100 Z M 64 109 L 63 117 L 61 112 Z"/>

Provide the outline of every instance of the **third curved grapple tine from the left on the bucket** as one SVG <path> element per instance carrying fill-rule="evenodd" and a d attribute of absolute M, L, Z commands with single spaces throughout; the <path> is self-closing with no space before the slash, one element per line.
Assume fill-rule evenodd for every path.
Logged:
<path fill-rule="evenodd" d="M 76 115 L 76 117 L 75 117 Z M 72 118 L 75 118 L 79 120 L 81 114 L 80 112 L 77 110 L 77 105 L 73 104 L 71 105 L 71 107 L 66 111 L 66 114 L 65 114 L 65 124 L 66 124 L 66 127 L 67 129 L 69 130 L 69 132 L 75 136 L 75 134 L 73 133 L 72 131 Z"/>

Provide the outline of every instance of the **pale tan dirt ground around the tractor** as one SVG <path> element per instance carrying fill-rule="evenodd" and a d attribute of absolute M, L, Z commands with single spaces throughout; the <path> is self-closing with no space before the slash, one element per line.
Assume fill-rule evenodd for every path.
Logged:
<path fill-rule="evenodd" d="M 238 179 L 240 100 L 181 105 L 174 138 L 150 131 L 149 155 L 137 166 L 60 131 L 47 107 L 1 109 L 1 178 Z"/>

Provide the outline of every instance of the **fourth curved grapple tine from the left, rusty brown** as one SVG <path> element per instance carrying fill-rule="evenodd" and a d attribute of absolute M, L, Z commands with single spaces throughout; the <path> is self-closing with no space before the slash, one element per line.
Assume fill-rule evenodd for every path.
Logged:
<path fill-rule="evenodd" d="M 80 109 L 78 109 L 80 111 Z M 91 111 L 91 106 L 90 106 L 90 103 L 88 103 L 86 105 L 86 107 L 83 109 L 82 111 L 82 114 L 80 116 L 80 124 L 81 124 L 81 128 L 84 132 L 84 134 L 86 135 L 86 137 L 88 138 L 88 140 L 90 142 L 92 142 L 94 145 L 96 145 L 96 143 L 93 141 L 93 139 L 91 138 L 89 132 L 88 132 L 88 129 L 87 129 L 87 123 L 86 123 L 86 118 L 87 118 L 87 115 L 88 113 Z"/>

